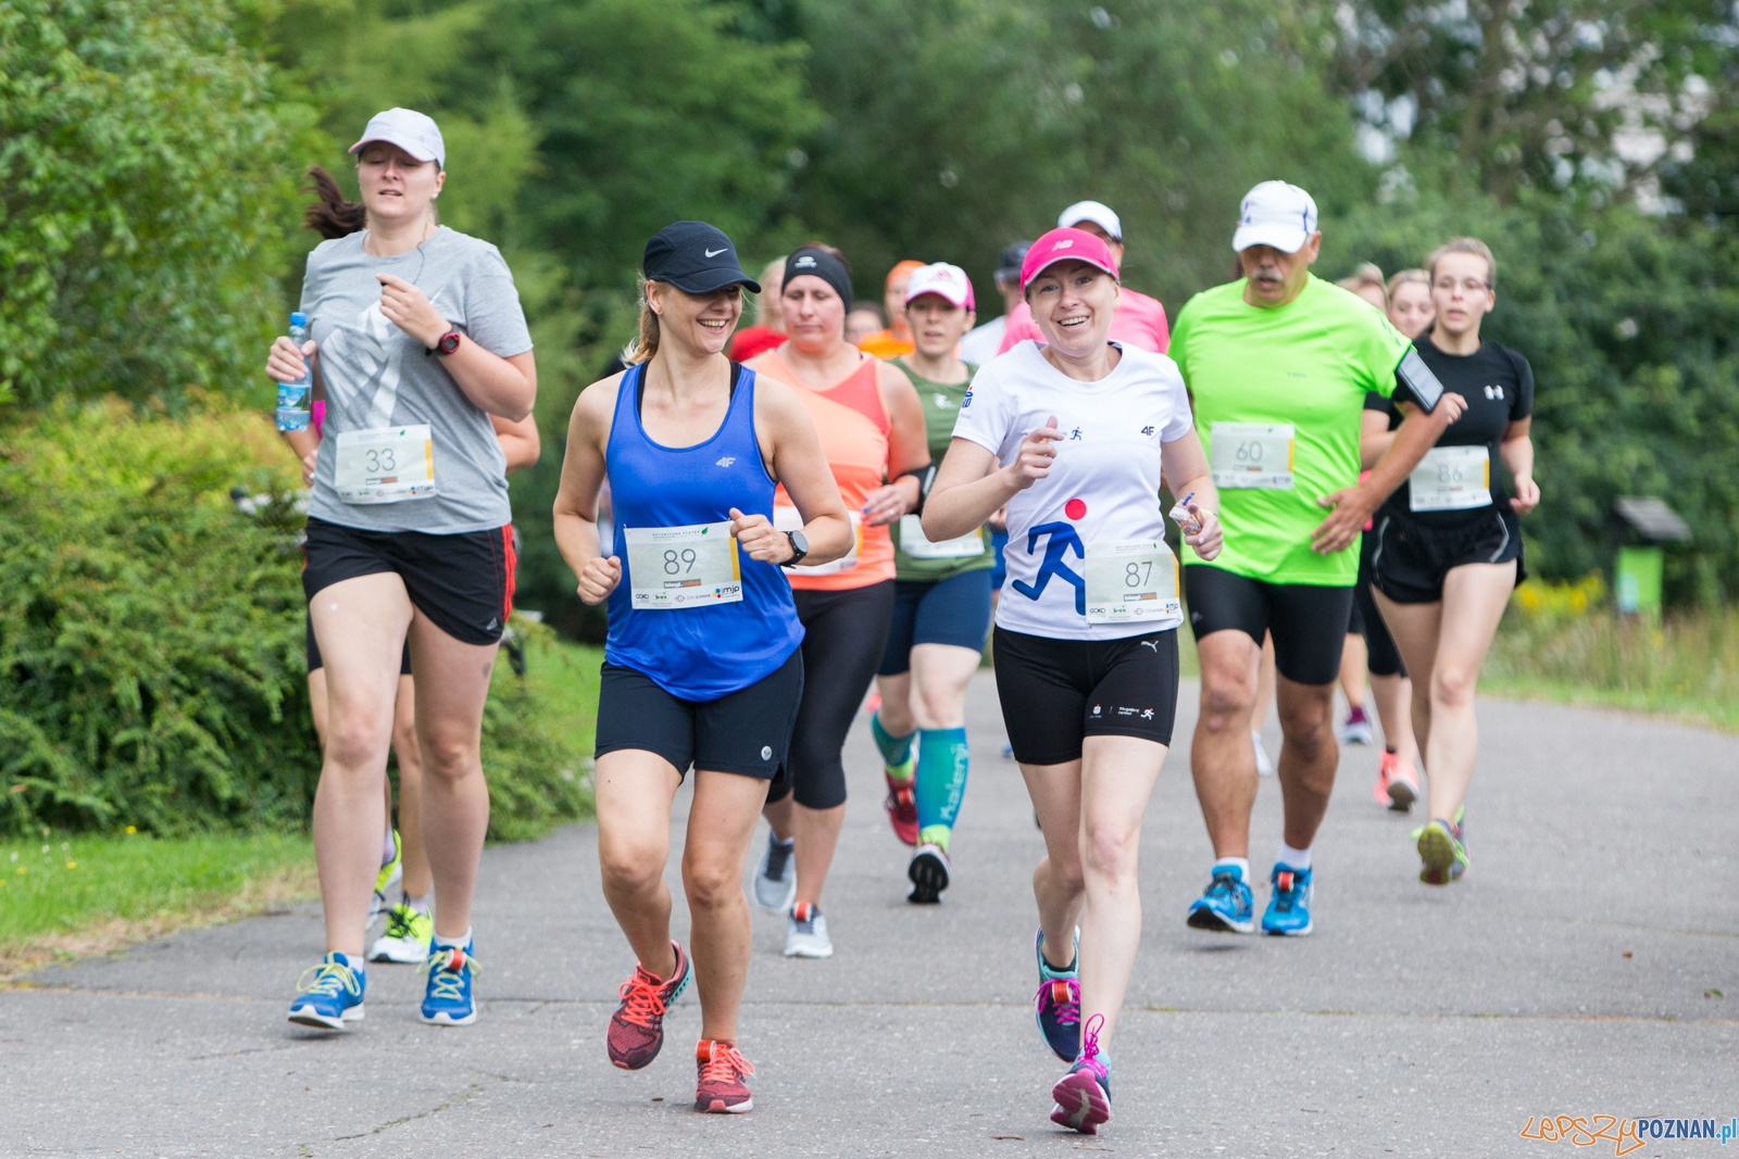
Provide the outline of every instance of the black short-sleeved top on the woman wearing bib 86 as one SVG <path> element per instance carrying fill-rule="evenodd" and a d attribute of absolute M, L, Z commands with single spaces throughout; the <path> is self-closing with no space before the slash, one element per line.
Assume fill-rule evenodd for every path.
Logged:
<path fill-rule="evenodd" d="M 1457 511 L 1414 511 L 1412 485 L 1402 481 L 1395 493 L 1384 500 L 1381 514 L 1405 514 L 1426 527 L 1464 527 L 1489 514 L 1492 507 L 1506 514 L 1513 513 L 1509 492 L 1502 481 L 1504 473 L 1499 469 L 1502 459 L 1497 454 L 1497 445 L 1511 422 L 1534 414 L 1534 368 L 1527 365 L 1527 358 L 1496 342 L 1480 342 L 1480 349 L 1471 354 L 1445 354 L 1431 342 L 1428 330 L 1414 339 L 1414 346 L 1443 389 L 1468 400 L 1468 408 L 1449 424 L 1436 445 L 1485 445 L 1485 454 L 1490 457 L 1492 502 Z M 1367 394 L 1365 410 L 1389 415 L 1391 431 L 1402 424 L 1400 410 L 1381 394 Z"/>

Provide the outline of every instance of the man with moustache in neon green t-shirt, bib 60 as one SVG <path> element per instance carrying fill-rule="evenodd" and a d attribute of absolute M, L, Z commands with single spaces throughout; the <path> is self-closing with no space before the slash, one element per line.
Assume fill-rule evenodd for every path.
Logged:
<path fill-rule="evenodd" d="M 1169 351 L 1195 403 L 1226 528 L 1212 563 L 1184 556 L 1202 660 L 1189 765 L 1216 857 L 1207 891 L 1189 907 L 1188 921 L 1200 930 L 1256 928 L 1249 721 L 1271 631 L 1285 836 L 1263 931 L 1311 931 L 1311 843 L 1339 761 L 1334 681 L 1360 530 L 1464 403 L 1443 393 L 1383 311 L 1309 273 L 1320 247 L 1309 193 L 1283 181 L 1250 189 L 1231 242 L 1243 276 L 1193 297 Z M 1360 483 L 1362 410 L 1372 391 L 1393 396 L 1405 421 Z"/>

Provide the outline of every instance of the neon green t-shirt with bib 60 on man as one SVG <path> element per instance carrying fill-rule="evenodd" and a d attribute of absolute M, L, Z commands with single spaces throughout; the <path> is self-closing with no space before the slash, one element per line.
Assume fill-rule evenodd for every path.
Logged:
<path fill-rule="evenodd" d="M 1365 394 L 1395 393 L 1409 349 L 1381 309 L 1316 276 L 1280 309 L 1247 304 L 1242 278 L 1189 299 L 1170 356 L 1219 487 L 1226 546 L 1212 566 L 1269 584 L 1356 582 L 1358 540 L 1311 551 L 1329 516 L 1316 500 L 1358 483 Z"/>

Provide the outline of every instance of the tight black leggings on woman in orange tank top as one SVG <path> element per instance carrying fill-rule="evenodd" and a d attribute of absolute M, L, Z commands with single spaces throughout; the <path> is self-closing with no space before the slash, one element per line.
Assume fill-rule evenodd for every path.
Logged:
<path fill-rule="evenodd" d="M 767 801 L 795 794 L 812 810 L 845 805 L 845 733 L 870 692 L 894 619 L 894 580 L 850 591 L 791 593 L 803 624 L 803 700 L 791 756 L 767 789 Z"/>

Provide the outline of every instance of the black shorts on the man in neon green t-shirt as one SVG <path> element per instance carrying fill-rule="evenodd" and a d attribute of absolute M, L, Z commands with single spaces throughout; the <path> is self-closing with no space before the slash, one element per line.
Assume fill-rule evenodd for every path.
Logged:
<path fill-rule="evenodd" d="M 1351 617 L 1351 587 L 1269 584 L 1224 568 L 1184 568 L 1184 601 L 1196 641 L 1240 631 L 1263 646 L 1275 634 L 1275 669 L 1296 685 L 1332 685 Z"/>

